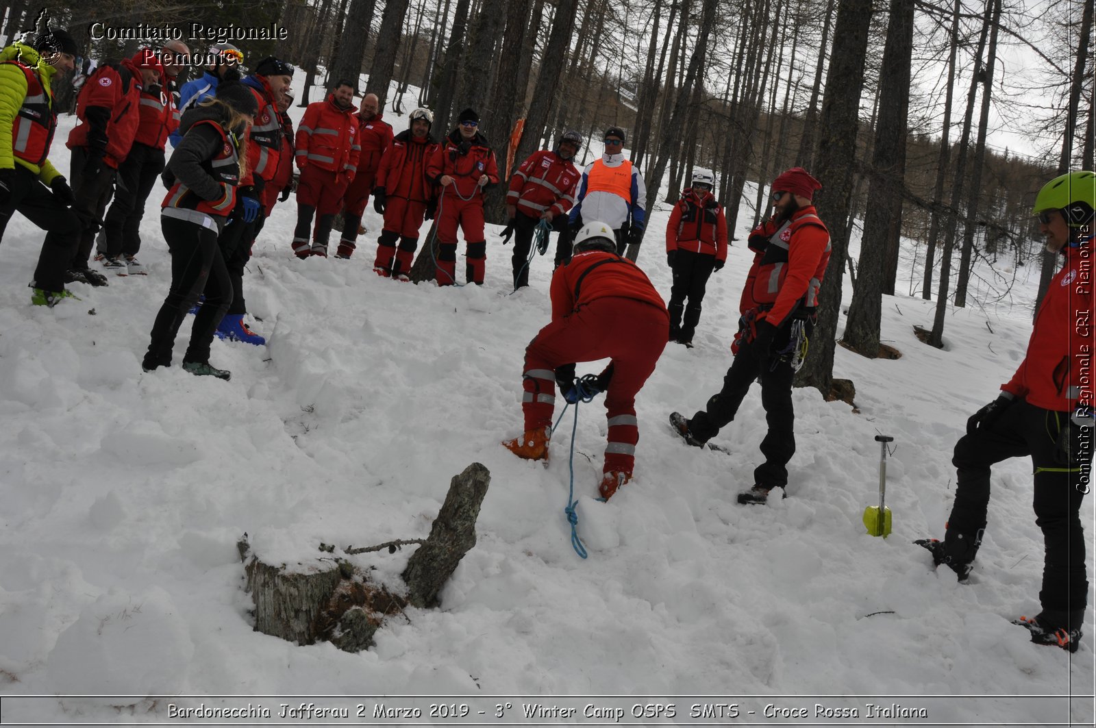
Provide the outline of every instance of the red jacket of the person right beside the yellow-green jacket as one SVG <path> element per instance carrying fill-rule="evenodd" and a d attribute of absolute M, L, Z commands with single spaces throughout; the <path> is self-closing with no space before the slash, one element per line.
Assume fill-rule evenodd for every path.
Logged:
<path fill-rule="evenodd" d="M 106 149 L 103 160 L 109 167 L 118 168 L 129 153 L 134 138 L 137 135 L 137 124 L 140 121 L 140 69 L 126 58 L 121 64 L 102 64 L 80 87 L 80 95 L 76 100 L 76 115 L 80 120 L 69 133 L 69 149 L 91 145 L 89 135 L 92 120 L 88 118 L 88 110 L 99 107 L 106 111 L 107 124 Z"/>

